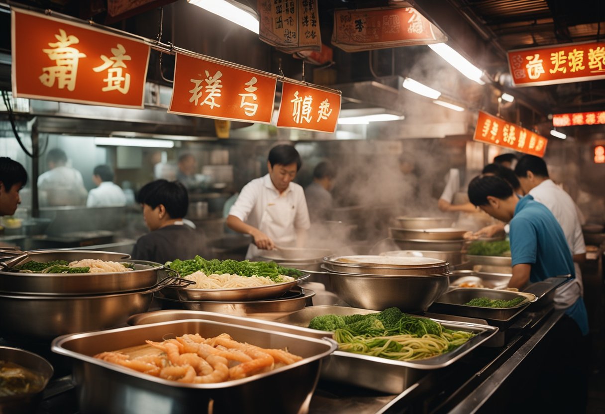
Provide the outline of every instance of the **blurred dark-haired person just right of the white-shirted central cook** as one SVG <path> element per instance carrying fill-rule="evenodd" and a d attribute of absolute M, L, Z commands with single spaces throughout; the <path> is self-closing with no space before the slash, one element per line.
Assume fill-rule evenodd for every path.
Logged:
<path fill-rule="evenodd" d="M 332 209 L 332 194 L 336 169 L 331 163 L 322 161 L 313 169 L 313 182 L 304 190 L 311 222 L 329 220 Z"/>

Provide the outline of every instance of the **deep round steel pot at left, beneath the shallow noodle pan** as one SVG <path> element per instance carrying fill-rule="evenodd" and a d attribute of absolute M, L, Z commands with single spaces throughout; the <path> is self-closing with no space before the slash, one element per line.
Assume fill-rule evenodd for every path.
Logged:
<path fill-rule="evenodd" d="M 1 294 L 0 332 L 3 337 L 48 340 L 65 333 L 113 327 L 149 309 L 154 293 L 169 283 L 181 284 L 183 280 L 166 278 L 150 289 L 110 295 Z"/>

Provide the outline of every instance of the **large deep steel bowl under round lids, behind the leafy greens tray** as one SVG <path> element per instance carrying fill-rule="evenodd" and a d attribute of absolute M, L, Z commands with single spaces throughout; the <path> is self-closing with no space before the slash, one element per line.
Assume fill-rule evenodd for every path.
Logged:
<path fill-rule="evenodd" d="M 339 298 L 353 307 L 373 310 L 396 306 L 405 312 L 425 311 L 449 284 L 449 274 L 418 277 L 329 273 Z"/>

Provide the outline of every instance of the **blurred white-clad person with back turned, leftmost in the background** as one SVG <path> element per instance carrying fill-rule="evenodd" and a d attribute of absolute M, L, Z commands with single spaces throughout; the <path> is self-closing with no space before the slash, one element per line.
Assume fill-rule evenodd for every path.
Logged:
<path fill-rule="evenodd" d="M 41 206 L 84 205 L 88 191 L 84 188 L 82 174 L 67 166 L 67 154 L 53 148 L 46 155 L 47 172 L 38 177 Z"/>

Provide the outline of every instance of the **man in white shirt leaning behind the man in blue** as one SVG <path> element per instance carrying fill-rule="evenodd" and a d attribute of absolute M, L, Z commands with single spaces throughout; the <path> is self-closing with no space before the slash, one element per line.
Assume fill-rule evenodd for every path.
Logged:
<path fill-rule="evenodd" d="M 525 155 L 518 161 L 515 166 L 515 175 L 518 177 L 521 188 L 525 194 L 530 194 L 534 200 L 542 203 L 552 212 L 557 218 L 557 222 L 563 228 L 563 233 L 567 240 L 567 244 L 574 256 L 574 267 L 576 283 L 568 283 L 566 289 L 569 295 L 572 291 L 579 289 L 582 293 L 582 279 L 580 266 L 586 260 L 586 245 L 584 244 L 584 236 L 578 216 L 578 208 L 560 186 L 556 185 L 548 176 L 546 162 L 540 157 Z M 565 286 L 563 286 L 565 287 Z"/>

